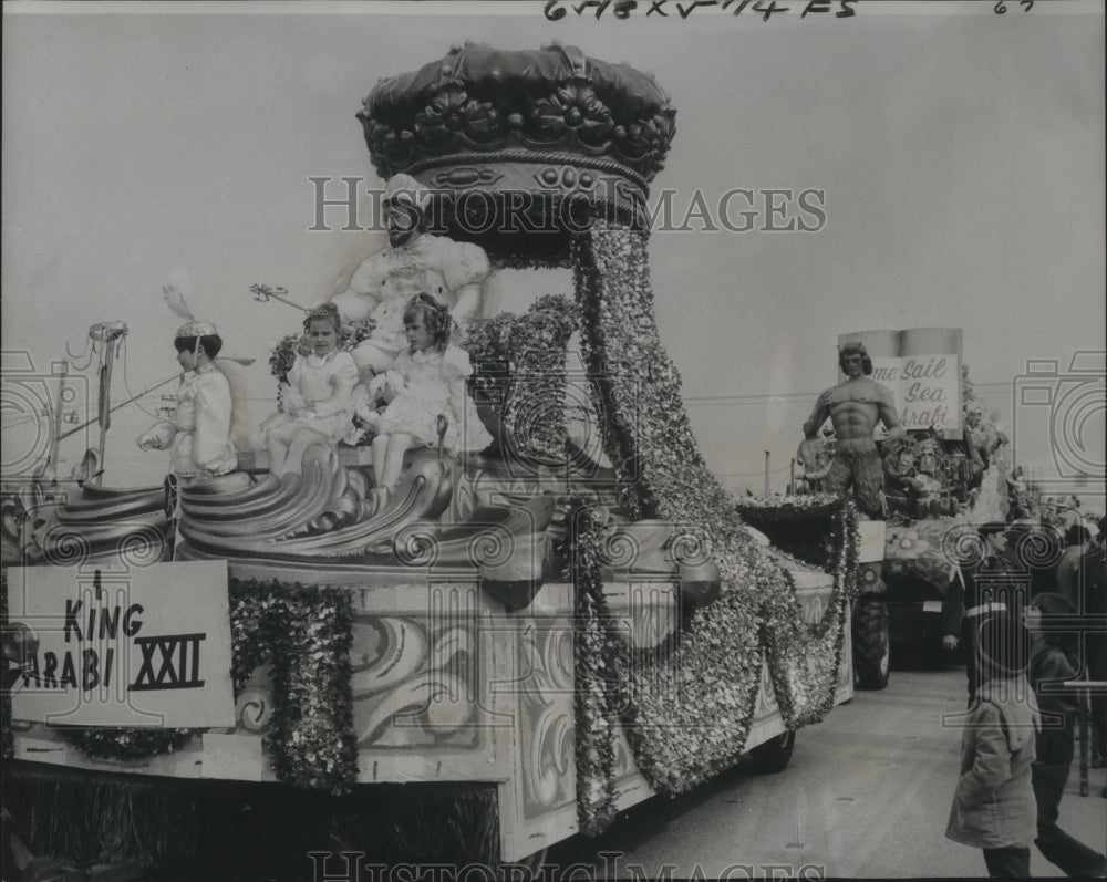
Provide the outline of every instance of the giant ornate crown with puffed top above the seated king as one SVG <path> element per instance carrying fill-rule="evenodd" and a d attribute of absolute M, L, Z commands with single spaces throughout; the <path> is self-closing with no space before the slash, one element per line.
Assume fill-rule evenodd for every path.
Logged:
<path fill-rule="evenodd" d="M 546 211 L 586 197 L 633 218 L 675 115 L 652 76 L 573 46 L 466 44 L 382 80 L 358 118 L 383 178 L 406 173 L 455 203 L 477 190 L 539 195 Z"/>

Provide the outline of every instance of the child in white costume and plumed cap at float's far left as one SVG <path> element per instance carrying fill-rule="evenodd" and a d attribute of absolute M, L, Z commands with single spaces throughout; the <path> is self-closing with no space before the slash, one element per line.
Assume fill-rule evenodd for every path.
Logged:
<path fill-rule="evenodd" d="M 184 369 L 173 419 L 163 419 L 138 436 L 143 450 L 173 447 L 169 471 L 187 482 L 225 475 L 238 466 L 230 440 L 230 384 L 213 359 L 223 340 L 214 324 L 188 322 L 174 346 Z"/>

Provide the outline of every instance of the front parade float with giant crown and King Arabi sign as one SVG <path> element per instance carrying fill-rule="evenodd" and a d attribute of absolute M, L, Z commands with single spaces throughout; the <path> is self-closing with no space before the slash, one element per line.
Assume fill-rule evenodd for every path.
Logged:
<path fill-rule="evenodd" d="M 660 342 L 644 207 L 674 116 L 558 45 L 453 49 L 364 101 L 379 175 L 432 191 L 437 232 L 571 271 L 469 330 L 484 453 L 410 454 L 383 501 L 344 445 L 299 480 L 245 452 L 190 486 L 6 496 L 4 800 L 31 852 L 241 859 L 283 807 L 301 871 L 516 861 L 744 755 L 783 769 L 851 697 L 852 502 L 766 502 L 807 547 L 762 541 Z"/>

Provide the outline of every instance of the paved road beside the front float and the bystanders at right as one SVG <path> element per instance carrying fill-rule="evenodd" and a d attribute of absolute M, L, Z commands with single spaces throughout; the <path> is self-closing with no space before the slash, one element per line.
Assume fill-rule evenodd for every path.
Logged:
<path fill-rule="evenodd" d="M 635 807 L 599 839 L 561 843 L 547 861 L 589 862 L 597 878 L 656 879 L 666 868 L 676 879 L 717 878 L 727 868 L 737 868 L 735 879 L 985 876 L 980 851 L 943 836 L 961 733 L 943 727 L 942 716 L 963 707 L 962 670 L 893 672 L 887 689 L 859 692 L 801 729 L 784 772 L 758 776 L 739 765 L 694 793 Z M 1061 823 L 1103 848 L 1107 772 L 1090 776 L 1092 795 L 1082 797 L 1074 765 Z M 1031 870 L 1061 874 L 1033 849 Z"/>

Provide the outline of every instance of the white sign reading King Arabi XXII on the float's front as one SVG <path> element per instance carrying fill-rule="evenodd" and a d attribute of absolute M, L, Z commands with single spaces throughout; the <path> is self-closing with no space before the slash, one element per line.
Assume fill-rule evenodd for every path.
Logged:
<path fill-rule="evenodd" d="M 11 568 L 15 719 L 235 725 L 227 562 Z"/>

